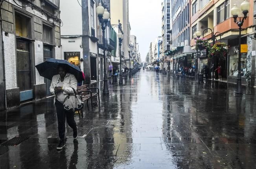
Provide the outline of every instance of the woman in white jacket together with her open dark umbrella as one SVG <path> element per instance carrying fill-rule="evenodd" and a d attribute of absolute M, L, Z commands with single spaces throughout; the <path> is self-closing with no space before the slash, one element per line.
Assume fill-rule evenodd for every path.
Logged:
<path fill-rule="evenodd" d="M 63 103 L 69 94 L 77 90 L 77 81 L 83 80 L 81 70 L 66 60 L 47 59 L 45 62 L 36 65 L 39 74 L 48 79 L 52 79 L 50 92 L 55 95 L 54 104 L 57 111 L 58 131 L 60 142 L 57 149 L 65 146 L 65 120 L 73 129 L 73 137 L 76 139 L 78 128 L 74 120 L 74 111 L 64 110 Z"/>

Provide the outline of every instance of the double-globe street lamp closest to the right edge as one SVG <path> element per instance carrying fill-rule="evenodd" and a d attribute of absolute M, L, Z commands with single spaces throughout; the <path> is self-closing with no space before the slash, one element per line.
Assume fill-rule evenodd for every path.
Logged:
<path fill-rule="evenodd" d="M 250 3 L 247 0 L 244 0 L 243 3 L 241 4 L 241 10 L 243 11 L 243 19 L 241 20 L 241 17 L 239 18 L 239 21 L 237 20 L 238 14 L 239 14 L 239 8 L 234 4 L 234 7 L 231 9 L 231 14 L 234 18 L 234 22 L 238 25 L 239 27 L 239 54 L 238 54 L 238 76 L 236 79 L 236 94 L 242 95 L 242 79 L 241 79 L 241 30 L 243 26 L 244 20 L 247 18 L 247 13 L 250 9 Z"/>

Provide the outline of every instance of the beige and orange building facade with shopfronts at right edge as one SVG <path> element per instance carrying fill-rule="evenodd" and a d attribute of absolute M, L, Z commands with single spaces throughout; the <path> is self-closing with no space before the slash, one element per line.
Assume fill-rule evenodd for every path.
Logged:
<path fill-rule="evenodd" d="M 239 27 L 234 23 L 234 19 L 231 15 L 231 9 L 234 4 L 240 7 L 241 0 L 192 0 L 191 3 L 191 26 L 192 37 L 195 31 L 200 31 L 202 37 L 207 38 L 209 43 L 212 43 L 212 33 L 210 29 L 216 34 L 217 42 L 225 42 L 229 46 L 229 53 L 226 58 L 214 60 L 215 67 L 220 65 L 222 67 L 222 77 L 227 79 L 228 82 L 236 83 L 236 77 L 238 74 L 238 36 Z M 247 46 L 246 50 L 241 54 L 241 76 L 243 85 L 254 85 L 255 81 L 255 40 L 253 39 L 253 32 L 255 30 L 254 13 L 254 0 L 249 0 L 250 10 L 247 14 L 242 27 L 241 44 Z M 240 11 L 239 17 L 242 17 L 242 11 Z M 239 19 L 239 18 L 238 18 Z M 210 28 L 210 29 L 207 29 Z M 207 29 L 204 31 L 204 29 Z M 204 32 L 204 34 L 203 34 Z M 248 36 L 247 36 L 248 35 Z M 250 35 L 250 36 L 249 36 Z M 193 46 L 195 41 L 191 38 L 191 45 Z M 253 52 L 254 51 L 254 52 Z M 202 67 L 212 65 L 211 61 L 206 55 L 199 58 L 199 72 L 202 72 Z M 251 74 L 248 81 L 247 74 Z"/>

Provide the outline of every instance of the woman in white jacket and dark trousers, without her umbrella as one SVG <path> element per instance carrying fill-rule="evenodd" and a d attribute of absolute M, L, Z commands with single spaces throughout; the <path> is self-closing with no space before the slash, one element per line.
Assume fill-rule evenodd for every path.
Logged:
<path fill-rule="evenodd" d="M 63 103 L 68 94 L 74 93 L 77 90 L 77 80 L 72 74 L 67 73 L 66 67 L 58 67 L 59 74 L 52 77 L 50 92 L 55 94 L 54 104 L 57 110 L 58 131 L 60 142 L 57 149 L 63 149 L 65 146 L 65 120 L 67 119 L 68 126 L 73 129 L 73 137 L 77 138 L 78 129 L 74 120 L 74 111 L 66 111 L 63 108 Z M 74 90 L 73 90 L 74 89 Z"/>

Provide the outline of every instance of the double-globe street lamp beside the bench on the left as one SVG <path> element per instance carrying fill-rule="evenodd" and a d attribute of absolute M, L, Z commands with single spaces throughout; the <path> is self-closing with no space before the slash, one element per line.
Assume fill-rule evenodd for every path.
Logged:
<path fill-rule="evenodd" d="M 101 29 L 103 34 L 103 56 L 104 56 L 104 79 L 103 79 L 103 95 L 109 95 L 109 88 L 108 88 L 108 79 L 107 79 L 107 65 L 106 65 L 106 53 L 105 53 L 105 29 L 107 27 L 107 23 L 109 22 L 110 13 L 107 9 L 99 3 L 98 7 L 96 8 L 96 13 L 98 14 L 99 22 L 101 23 Z"/>

